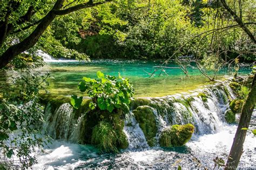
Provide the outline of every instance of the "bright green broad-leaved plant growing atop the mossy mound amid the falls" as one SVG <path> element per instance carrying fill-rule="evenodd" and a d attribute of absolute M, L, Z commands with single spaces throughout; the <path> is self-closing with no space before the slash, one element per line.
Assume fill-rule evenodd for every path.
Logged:
<path fill-rule="evenodd" d="M 133 97 L 134 89 L 129 79 L 104 75 L 97 72 L 99 80 L 84 77 L 78 87 L 81 92 L 86 92 L 92 98 L 90 108 L 93 110 L 107 110 L 112 112 L 115 108 L 129 111 L 130 100 Z M 72 96 L 71 104 L 78 108 L 82 98 Z"/>

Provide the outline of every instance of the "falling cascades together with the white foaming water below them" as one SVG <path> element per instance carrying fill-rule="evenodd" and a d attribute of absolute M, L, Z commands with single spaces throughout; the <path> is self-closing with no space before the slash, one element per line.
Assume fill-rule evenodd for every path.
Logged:
<path fill-rule="evenodd" d="M 201 96 L 201 93 L 205 96 Z M 235 95 L 226 83 L 210 85 L 203 90 L 191 91 L 190 94 L 145 98 L 147 103 L 138 104 L 137 107 L 146 105 L 152 110 L 157 125 L 157 142 L 160 132 L 167 126 L 187 123 L 195 126 L 191 141 L 177 148 L 164 149 L 158 147 L 158 144 L 149 147 L 133 114 L 136 108 L 131 108 L 131 112 L 125 116 L 124 126 L 129 147 L 123 152 L 98 154 L 97 149 L 90 145 L 55 141 L 51 149 L 47 150 L 48 155 L 35 153 L 39 159 L 35 168 L 177 168 L 178 165 L 184 168 L 213 168 L 213 159 L 217 155 L 227 158 L 237 128 L 234 124 L 226 124 L 224 119 L 228 99 L 234 98 Z M 69 104 L 62 104 L 53 112 L 48 104 L 45 108 L 46 131 L 53 138 L 78 142 L 82 135 L 80 129 L 85 126 L 84 115 L 77 119 L 72 112 Z M 252 119 L 256 120 L 256 111 Z M 246 155 L 241 159 L 240 167 L 255 168 L 253 147 L 255 140 L 249 132 L 244 147 Z M 56 152 L 59 152 L 59 156 Z"/>

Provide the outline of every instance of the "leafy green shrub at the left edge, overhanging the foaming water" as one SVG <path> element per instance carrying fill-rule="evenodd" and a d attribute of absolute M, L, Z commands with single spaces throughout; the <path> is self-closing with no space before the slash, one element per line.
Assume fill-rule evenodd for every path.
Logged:
<path fill-rule="evenodd" d="M 28 168 L 37 163 L 31 152 L 46 144 L 40 137 L 44 120 L 38 94 L 48 84 L 46 78 L 49 74 L 32 70 L 19 74 L 21 76 L 14 76 L 6 82 L 0 101 L 0 147 L 7 167 L 17 164 L 17 161 L 20 168 Z"/>

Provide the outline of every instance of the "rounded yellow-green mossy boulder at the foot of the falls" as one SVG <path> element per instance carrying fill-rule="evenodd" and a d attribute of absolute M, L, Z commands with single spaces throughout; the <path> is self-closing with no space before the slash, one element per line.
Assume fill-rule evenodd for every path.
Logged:
<path fill-rule="evenodd" d="M 160 134 L 159 144 L 162 147 L 183 146 L 191 139 L 193 132 L 194 126 L 191 124 L 167 127 Z"/>

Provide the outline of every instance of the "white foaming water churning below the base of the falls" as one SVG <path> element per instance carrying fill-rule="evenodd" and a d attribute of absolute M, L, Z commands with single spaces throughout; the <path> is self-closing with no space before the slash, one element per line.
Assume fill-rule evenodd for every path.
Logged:
<path fill-rule="evenodd" d="M 256 118 L 256 110 L 254 111 Z M 254 126 L 255 127 L 255 126 Z M 222 130 L 214 134 L 199 135 L 198 138 L 187 142 L 183 151 L 166 151 L 160 148 L 148 148 L 138 151 L 124 151 L 114 155 L 100 155 L 97 149 L 92 146 L 71 144 L 64 141 L 53 141 L 49 148 L 45 148 L 45 153 L 38 150 L 35 154 L 38 164 L 35 169 L 73 169 L 77 167 L 86 168 L 176 168 L 177 164 L 181 167 L 193 168 L 200 164 L 203 168 L 213 168 L 215 157 L 227 158 L 230 151 L 234 133 L 237 125 L 225 125 Z M 244 144 L 244 153 L 241 157 L 241 168 L 255 168 L 256 140 L 251 132 L 248 132 Z M 191 160 L 192 161 L 191 161 Z M 200 161 L 200 162 L 198 162 Z M 176 163 L 175 163 L 176 162 Z M 177 163 L 178 162 L 178 163 Z"/>

